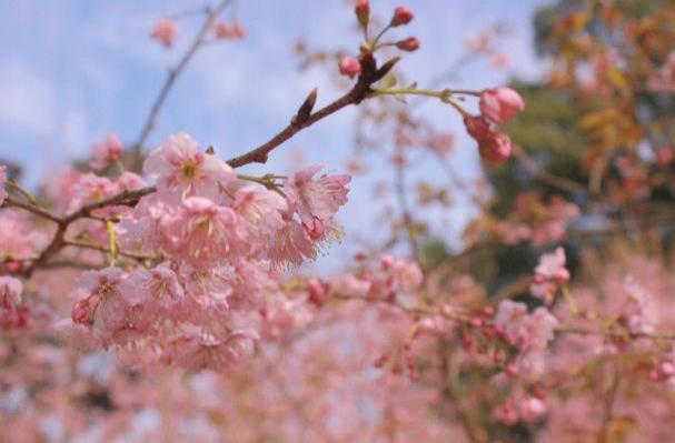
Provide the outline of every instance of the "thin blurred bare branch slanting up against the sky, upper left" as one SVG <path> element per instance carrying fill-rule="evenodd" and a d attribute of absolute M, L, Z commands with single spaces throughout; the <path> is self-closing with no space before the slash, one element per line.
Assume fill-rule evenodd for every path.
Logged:
<path fill-rule="evenodd" d="M 201 28 L 197 32 L 197 36 L 195 36 L 195 40 L 192 41 L 192 43 L 188 47 L 187 51 L 183 53 L 183 56 L 178 61 L 178 64 L 176 64 L 175 68 L 169 70 L 169 73 L 167 74 L 167 79 L 165 80 L 165 83 L 161 87 L 159 94 L 157 95 L 157 98 L 155 99 L 155 102 L 150 107 L 150 112 L 148 113 L 146 122 L 142 125 L 140 134 L 138 135 L 138 139 L 136 140 L 136 142 L 132 145 L 133 167 L 140 167 L 140 160 L 141 160 L 143 144 L 146 143 L 148 135 L 150 135 L 150 132 L 152 132 L 152 129 L 155 129 L 157 115 L 159 114 L 161 107 L 163 105 L 165 101 L 167 100 L 167 97 L 169 95 L 171 88 L 176 83 L 176 80 L 185 71 L 185 69 L 188 66 L 188 63 L 190 62 L 190 60 L 195 57 L 195 54 L 197 53 L 199 48 L 204 44 L 205 37 L 207 36 L 207 32 L 209 31 L 209 28 L 210 28 L 214 19 L 216 17 L 218 17 L 230 3 L 231 3 L 231 0 L 222 0 L 215 8 L 205 9 L 206 19 L 205 19 L 204 23 L 201 24 Z"/>

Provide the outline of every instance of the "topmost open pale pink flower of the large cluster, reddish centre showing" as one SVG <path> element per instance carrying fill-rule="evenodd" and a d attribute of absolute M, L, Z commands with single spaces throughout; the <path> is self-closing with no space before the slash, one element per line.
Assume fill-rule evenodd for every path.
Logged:
<path fill-rule="evenodd" d="M 217 200 L 221 184 L 236 179 L 227 163 L 200 152 L 197 142 L 185 132 L 170 135 L 150 152 L 143 172 L 158 181 L 158 192 L 173 203 L 190 195 Z"/>

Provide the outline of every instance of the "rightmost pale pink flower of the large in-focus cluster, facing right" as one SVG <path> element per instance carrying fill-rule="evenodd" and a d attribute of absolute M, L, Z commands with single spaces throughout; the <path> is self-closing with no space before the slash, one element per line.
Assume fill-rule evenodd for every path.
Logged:
<path fill-rule="evenodd" d="M 312 225 L 312 219 L 329 221 L 341 205 L 347 202 L 345 187 L 351 178 L 349 175 L 321 175 L 314 179 L 322 165 L 305 168 L 290 179 L 284 187 L 289 207 L 292 208 L 302 223 Z"/>

